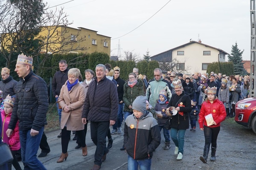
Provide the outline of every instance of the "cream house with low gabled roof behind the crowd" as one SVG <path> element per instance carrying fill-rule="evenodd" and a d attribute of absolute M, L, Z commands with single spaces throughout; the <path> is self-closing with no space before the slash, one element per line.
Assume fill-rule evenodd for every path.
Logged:
<path fill-rule="evenodd" d="M 190 41 L 189 43 L 156 54 L 151 57 L 151 60 L 158 62 L 175 61 L 176 68 L 174 70 L 177 73 L 194 74 L 194 72 L 205 73 L 208 65 L 213 62 L 225 62 L 226 55 L 229 54 L 222 49 L 202 44 L 201 40 L 199 40 Z"/>

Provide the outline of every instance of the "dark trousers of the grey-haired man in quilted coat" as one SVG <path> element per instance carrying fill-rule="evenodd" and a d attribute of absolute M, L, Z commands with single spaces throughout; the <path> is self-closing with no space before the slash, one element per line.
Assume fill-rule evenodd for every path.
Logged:
<path fill-rule="evenodd" d="M 109 121 L 103 122 L 90 122 L 91 139 L 96 145 L 96 151 L 94 154 L 94 164 L 101 166 L 101 158 L 108 152 L 108 148 L 105 146 L 106 136 L 109 130 Z"/>

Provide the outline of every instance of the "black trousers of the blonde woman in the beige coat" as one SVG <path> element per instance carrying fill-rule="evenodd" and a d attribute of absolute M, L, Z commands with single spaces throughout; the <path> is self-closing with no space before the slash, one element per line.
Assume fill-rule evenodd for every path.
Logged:
<path fill-rule="evenodd" d="M 85 134 L 84 134 L 84 130 L 76 131 L 76 132 L 77 132 L 77 136 L 81 139 L 81 146 L 85 147 Z M 68 152 L 70 133 L 71 133 L 71 131 L 68 131 L 66 126 L 61 130 L 61 148 L 62 148 L 62 153 L 67 153 Z"/>

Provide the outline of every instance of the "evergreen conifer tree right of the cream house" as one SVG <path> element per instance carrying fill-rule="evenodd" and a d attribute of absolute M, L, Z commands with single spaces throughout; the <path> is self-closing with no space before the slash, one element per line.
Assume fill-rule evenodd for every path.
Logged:
<path fill-rule="evenodd" d="M 228 61 L 232 62 L 234 65 L 234 74 L 237 75 L 246 75 L 247 72 L 244 69 L 244 66 L 242 63 L 243 59 L 242 59 L 242 54 L 243 54 L 244 50 L 241 51 L 239 50 L 239 48 L 237 47 L 237 43 L 236 45 L 232 45 L 232 49 L 231 49 L 231 54 L 228 55 Z"/>

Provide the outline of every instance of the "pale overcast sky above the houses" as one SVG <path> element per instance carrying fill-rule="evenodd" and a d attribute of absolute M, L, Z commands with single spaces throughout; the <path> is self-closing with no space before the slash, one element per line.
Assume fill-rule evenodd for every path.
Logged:
<path fill-rule="evenodd" d="M 44 2 L 51 7 L 68 1 Z M 198 41 L 199 37 L 203 44 L 229 54 L 237 42 L 238 48 L 244 50 L 243 60 L 250 60 L 251 0 L 168 1 L 73 0 L 57 9 L 64 7 L 68 20 L 73 21 L 70 27 L 83 27 L 112 37 L 111 55 L 118 53 L 118 40 L 121 54 L 130 51 L 143 57 L 147 50 L 153 56 L 186 44 L 190 39 Z"/>

